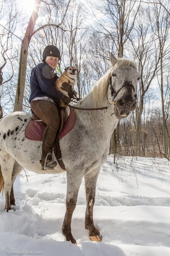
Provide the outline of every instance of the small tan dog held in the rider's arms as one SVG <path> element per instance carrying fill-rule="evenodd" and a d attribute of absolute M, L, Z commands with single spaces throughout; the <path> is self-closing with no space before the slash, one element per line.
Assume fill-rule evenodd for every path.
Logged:
<path fill-rule="evenodd" d="M 77 92 L 74 90 L 74 86 L 76 83 L 75 78 L 76 78 L 77 73 L 78 73 L 78 71 L 74 66 L 68 66 L 68 68 L 65 69 L 65 72 L 63 72 L 62 75 L 60 75 L 60 77 L 56 80 L 55 87 L 57 88 L 57 90 L 62 92 L 67 97 L 69 97 L 68 92 L 64 91 L 61 88 L 63 82 L 67 82 L 68 84 L 70 84 L 72 86 L 73 92 L 76 96 Z M 66 111 L 69 112 L 68 105 L 65 105 L 62 100 L 60 100 L 60 107 L 66 108 Z M 69 113 L 68 113 L 68 116 L 69 116 Z"/>

